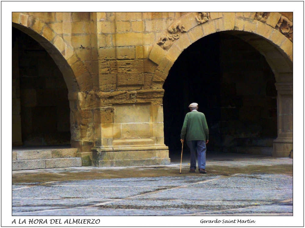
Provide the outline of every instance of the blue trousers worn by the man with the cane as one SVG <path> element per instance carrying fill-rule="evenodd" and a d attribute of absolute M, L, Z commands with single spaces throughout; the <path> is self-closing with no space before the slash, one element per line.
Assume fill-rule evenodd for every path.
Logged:
<path fill-rule="evenodd" d="M 191 165 L 190 169 L 196 169 L 196 150 L 198 156 L 198 169 L 206 168 L 206 141 L 203 140 L 194 140 L 187 141 L 188 147 L 191 150 Z"/>

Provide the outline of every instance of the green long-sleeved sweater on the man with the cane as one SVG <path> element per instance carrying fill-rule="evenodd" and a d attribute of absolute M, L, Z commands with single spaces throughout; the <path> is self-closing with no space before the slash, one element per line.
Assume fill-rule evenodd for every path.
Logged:
<path fill-rule="evenodd" d="M 195 110 L 186 114 L 181 130 L 181 139 L 184 139 L 185 133 L 187 133 L 186 141 L 206 141 L 209 139 L 209 128 L 202 112 Z"/>

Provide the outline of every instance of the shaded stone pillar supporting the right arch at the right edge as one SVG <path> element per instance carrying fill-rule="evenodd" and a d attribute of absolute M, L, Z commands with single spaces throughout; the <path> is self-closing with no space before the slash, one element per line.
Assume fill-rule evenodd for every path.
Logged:
<path fill-rule="evenodd" d="M 292 82 L 275 83 L 278 91 L 278 137 L 273 141 L 274 157 L 293 157 L 293 96 Z"/>

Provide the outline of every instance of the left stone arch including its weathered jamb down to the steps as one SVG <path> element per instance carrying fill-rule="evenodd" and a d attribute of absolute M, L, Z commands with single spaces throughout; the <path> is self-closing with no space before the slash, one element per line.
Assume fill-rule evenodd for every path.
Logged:
<path fill-rule="evenodd" d="M 84 149 L 92 144 L 88 135 L 87 106 L 83 100 L 92 90 L 92 78 L 84 63 L 59 34 L 47 23 L 27 13 L 12 13 L 12 26 L 34 38 L 52 57 L 66 82 L 70 102 L 71 146 Z"/>

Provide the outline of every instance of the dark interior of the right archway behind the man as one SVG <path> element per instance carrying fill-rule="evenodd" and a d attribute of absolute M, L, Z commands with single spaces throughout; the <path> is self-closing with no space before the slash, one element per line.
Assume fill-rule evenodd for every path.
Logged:
<path fill-rule="evenodd" d="M 264 56 L 238 37 L 218 32 L 190 45 L 163 85 L 164 142 L 170 155 L 181 153 L 181 128 L 193 102 L 207 119 L 208 152 L 271 155 L 277 137 L 274 83 Z"/>

